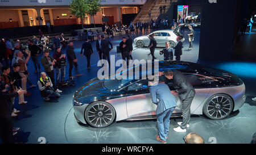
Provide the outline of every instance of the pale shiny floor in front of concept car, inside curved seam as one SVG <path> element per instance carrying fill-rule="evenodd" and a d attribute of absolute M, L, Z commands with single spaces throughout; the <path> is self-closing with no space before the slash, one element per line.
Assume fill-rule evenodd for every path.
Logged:
<path fill-rule="evenodd" d="M 246 100 L 250 102 L 250 100 Z M 256 131 L 256 102 L 245 103 L 239 111 L 233 112 L 227 119 L 210 120 L 203 115 L 194 115 L 187 132 L 174 132 L 181 118 L 172 118 L 167 144 L 183 144 L 183 137 L 190 132 L 201 135 L 206 144 L 246 144 L 250 143 Z M 68 143 L 102 144 L 158 144 L 156 120 L 118 122 L 106 128 L 93 128 L 80 125 L 73 116 L 73 110 L 67 116 L 65 135 Z"/>

